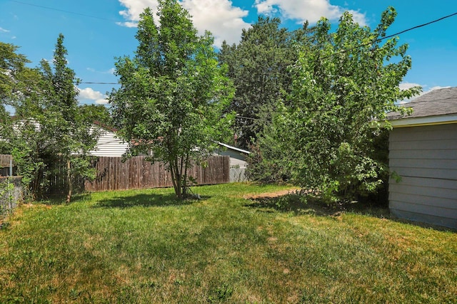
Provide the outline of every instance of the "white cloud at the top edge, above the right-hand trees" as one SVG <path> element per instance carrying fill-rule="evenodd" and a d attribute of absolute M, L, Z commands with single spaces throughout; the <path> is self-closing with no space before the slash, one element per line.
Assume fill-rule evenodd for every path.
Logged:
<path fill-rule="evenodd" d="M 258 14 L 276 15 L 280 13 L 286 19 L 296 20 L 303 23 L 308 20 L 316 23 L 321 17 L 329 20 L 337 20 L 344 11 L 341 6 L 330 4 L 329 0 L 256 0 L 254 6 Z M 366 25 L 366 16 L 360 11 L 349 10 L 354 21 L 360 25 Z"/>

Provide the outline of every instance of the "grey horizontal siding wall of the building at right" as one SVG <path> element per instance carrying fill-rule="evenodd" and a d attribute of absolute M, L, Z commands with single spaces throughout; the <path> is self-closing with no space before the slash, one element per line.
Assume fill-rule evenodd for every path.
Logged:
<path fill-rule="evenodd" d="M 389 137 L 393 215 L 457 229 L 457 125 L 398 127 Z"/>

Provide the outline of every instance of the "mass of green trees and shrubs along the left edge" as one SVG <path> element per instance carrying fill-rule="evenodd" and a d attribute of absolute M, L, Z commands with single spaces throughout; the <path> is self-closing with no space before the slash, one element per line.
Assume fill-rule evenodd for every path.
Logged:
<path fill-rule="evenodd" d="M 24 66 L 28 61 L 14 53 L 15 47 L 0 51 L 4 63 L 15 63 L 6 66 L 4 73 L 11 74 L 11 82 L 19 83 L 19 89 L 6 86 L 6 93 L 0 93 L 1 108 L 9 105 L 14 109 L 14 117 L 5 112 L 1 119 L 2 150 L 13 155 L 17 174 L 23 176 L 32 199 L 46 195 L 55 164 L 63 162 L 64 192 L 70 201 L 76 178 L 94 177 L 89 151 L 94 150 L 100 132 L 93 127 L 94 115 L 78 105 L 75 84 L 79 80 L 67 65 L 64 36 L 57 38 L 52 64 L 42 60 L 36 69 Z"/>

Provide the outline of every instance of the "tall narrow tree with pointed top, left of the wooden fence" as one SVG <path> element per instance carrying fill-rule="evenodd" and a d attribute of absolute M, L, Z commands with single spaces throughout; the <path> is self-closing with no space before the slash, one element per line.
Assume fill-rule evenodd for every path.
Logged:
<path fill-rule="evenodd" d="M 46 145 L 66 162 L 66 201 L 71 200 L 73 184 L 77 177 L 94 177 L 89 169 L 89 152 L 94 150 L 99 132 L 92 128 L 93 120 L 84 115 L 76 99 L 79 90 L 74 70 L 67 66 L 68 52 L 64 46 L 64 35 L 59 34 L 54 51 L 53 67 L 48 61 L 41 61 L 44 77 L 45 111 L 42 112 L 40 126 L 47 135 Z"/>

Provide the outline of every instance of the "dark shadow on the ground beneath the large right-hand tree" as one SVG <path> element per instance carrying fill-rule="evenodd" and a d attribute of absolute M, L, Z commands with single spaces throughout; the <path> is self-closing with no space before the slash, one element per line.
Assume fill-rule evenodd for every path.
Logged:
<path fill-rule="evenodd" d="M 298 194 L 287 194 L 266 199 L 249 199 L 245 206 L 257 208 L 264 212 L 272 212 L 273 209 L 280 212 L 293 212 L 293 214 L 297 216 L 303 214 L 338 216 L 343 212 L 355 212 L 380 219 L 391 217 L 388 209 L 379 206 L 361 203 L 328 205 L 316 198 L 308 198 L 305 202 L 303 201 L 302 196 Z"/>

